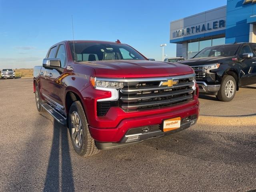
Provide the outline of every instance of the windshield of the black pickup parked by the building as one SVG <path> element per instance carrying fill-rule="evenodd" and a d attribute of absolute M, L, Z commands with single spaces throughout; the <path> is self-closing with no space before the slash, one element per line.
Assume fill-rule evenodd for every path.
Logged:
<path fill-rule="evenodd" d="M 194 58 L 201 57 L 230 57 L 236 54 L 239 44 L 208 47 L 200 51 Z"/>

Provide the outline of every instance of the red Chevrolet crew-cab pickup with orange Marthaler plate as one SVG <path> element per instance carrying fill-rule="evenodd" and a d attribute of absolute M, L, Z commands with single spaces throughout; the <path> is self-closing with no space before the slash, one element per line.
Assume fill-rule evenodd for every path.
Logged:
<path fill-rule="evenodd" d="M 184 130 L 199 113 L 192 68 L 150 61 L 119 40 L 55 44 L 34 67 L 34 93 L 81 156 Z"/>

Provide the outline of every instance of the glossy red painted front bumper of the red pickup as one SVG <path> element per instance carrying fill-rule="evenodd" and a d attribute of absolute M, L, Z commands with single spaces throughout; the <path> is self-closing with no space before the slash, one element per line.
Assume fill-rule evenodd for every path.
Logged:
<path fill-rule="evenodd" d="M 112 110 L 118 110 L 118 108 L 112 108 Z M 122 120 L 120 120 L 120 122 L 114 128 L 99 128 L 89 126 L 92 138 L 94 138 L 96 142 L 118 143 L 121 142 L 124 136 L 128 133 L 128 131 L 133 128 L 161 125 L 163 120 L 176 117 L 180 117 L 181 119 L 183 119 L 188 116 L 196 115 L 196 118 L 198 118 L 199 103 L 196 99 L 184 105 L 179 105 L 175 107 L 148 110 L 148 112 L 128 112 L 125 114 L 126 116 L 122 117 Z M 114 115 L 113 113 L 113 120 L 115 120 L 115 122 L 119 121 L 119 119 L 115 117 L 116 115 Z M 110 124 L 113 125 L 114 122 L 108 122 L 108 126 Z"/>

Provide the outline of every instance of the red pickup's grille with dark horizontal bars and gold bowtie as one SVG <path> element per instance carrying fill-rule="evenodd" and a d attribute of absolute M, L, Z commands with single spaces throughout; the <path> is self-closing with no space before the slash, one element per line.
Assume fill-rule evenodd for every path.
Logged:
<path fill-rule="evenodd" d="M 167 79 L 177 83 L 170 87 L 161 86 Z M 120 90 L 119 106 L 124 111 L 132 111 L 182 104 L 192 100 L 193 86 L 194 74 L 125 82 Z"/>

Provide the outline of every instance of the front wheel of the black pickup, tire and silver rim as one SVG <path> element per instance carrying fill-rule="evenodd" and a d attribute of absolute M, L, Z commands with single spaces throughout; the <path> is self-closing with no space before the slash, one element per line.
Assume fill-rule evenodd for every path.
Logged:
<path fill-rule="evenodd" d="M 222 78 L 222 82 L 220 84 L 220 90 L 218 91 L 218 94 L 216 95 L 216 97 L 220 101 L 228 102 L 228 101 L 231 101 L 235 95 L 236 95 L 236 80 L 234 79 L 233 76 L 225 75 Z"/>

